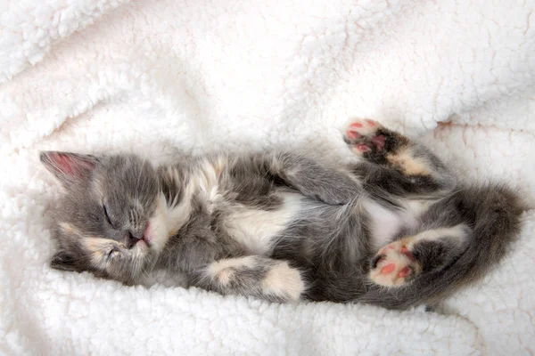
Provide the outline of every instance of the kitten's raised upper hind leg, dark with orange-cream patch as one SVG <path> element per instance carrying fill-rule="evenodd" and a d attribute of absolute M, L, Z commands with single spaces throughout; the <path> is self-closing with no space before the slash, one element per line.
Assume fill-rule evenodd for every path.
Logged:
<path fill-rule="evenodd" d="M 423 145 L 391 131 L 376 121 L 354 120 L 347 126 L 344 141 L 356 155 L 383 166 L 370 172 L 369 166 L 357 166 L 356 174 L 369 184 L 391 192 L 429 193 L 450 191 L 454 176 Z"/>

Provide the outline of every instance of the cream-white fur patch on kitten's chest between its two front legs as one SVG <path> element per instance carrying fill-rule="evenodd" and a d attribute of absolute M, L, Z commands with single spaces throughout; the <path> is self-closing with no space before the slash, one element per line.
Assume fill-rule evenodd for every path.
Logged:
<path fill-rule="evenodd" d="M 274 238 L 280 235 L 300 213 L 305 199 L 298 193 L 281 193 L 282 206 L 267 211 L 238 206 L 226 216 L 226 232 L 253 255 L 270 255 Z"/>

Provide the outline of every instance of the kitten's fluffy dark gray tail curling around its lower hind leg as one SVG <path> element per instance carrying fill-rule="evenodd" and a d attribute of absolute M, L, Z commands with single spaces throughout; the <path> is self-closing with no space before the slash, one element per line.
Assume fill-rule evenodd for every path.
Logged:
<path fill-rule="evenodd" d="M 423 274 L 405 287 L 371 287 L 358 302 L 390 309 L 437 303 L 481 279 L 504 258 L 522 228 L 521 215 L 527 209 L 523 199 L 504 184 L 467 188 L 450 199 L 473 229 L 464 253 L 448 267 Z"/>

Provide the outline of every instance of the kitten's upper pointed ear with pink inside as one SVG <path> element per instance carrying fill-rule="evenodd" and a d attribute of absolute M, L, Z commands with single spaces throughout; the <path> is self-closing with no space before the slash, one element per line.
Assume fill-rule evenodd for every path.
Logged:
<path fill-rule="evenodd" d="M 66 188 L 72 183 L 87 179 L 98 163 L 95 156 L 52 150 L 41 152 L 39 158 Z"/>

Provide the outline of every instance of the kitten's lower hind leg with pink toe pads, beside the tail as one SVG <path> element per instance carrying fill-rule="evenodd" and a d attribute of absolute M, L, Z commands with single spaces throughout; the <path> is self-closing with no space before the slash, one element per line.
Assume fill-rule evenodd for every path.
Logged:
<path fill-rule="evenodd" d="M 374 256 L 369 278 L 384 287 L 400 287 L 422 273 L 440 270 L 462 254 L 470 234 L 461 224 L 396 240 Z"/>

